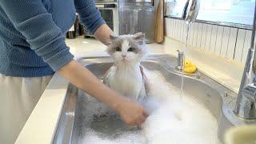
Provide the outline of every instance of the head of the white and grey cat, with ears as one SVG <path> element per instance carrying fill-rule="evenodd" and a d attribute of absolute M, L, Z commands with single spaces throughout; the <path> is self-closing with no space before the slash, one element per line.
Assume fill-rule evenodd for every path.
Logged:
<path fill-rule="evenodd" d="M 116 63 L 140 62 L 146 56 L 145 34 L 110 36 L 107 53 Z"/>

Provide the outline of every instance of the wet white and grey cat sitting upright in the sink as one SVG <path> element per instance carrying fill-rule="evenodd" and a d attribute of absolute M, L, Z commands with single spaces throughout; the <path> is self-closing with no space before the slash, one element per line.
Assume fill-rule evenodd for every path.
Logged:
<path fill-rule="evenodd" d="M 103 82 L 120 94 L 140 102 L 146 97 L 146 76 L 140 62 L 147 54 L 145 34 L 110 36 L 107 53 L 114 66 L 105 74 Z"/>

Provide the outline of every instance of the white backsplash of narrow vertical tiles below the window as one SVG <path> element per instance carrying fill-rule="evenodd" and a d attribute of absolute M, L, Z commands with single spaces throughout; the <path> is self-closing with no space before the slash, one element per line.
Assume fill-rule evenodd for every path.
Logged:
<path fill-rule="evenodd" d="M 165 18 L 165 27 L 166 36 L 186 42 L 184 21 Z M 204 50 L 222 58 L 245 63 L 251 33 L 251 30 L 194 22 L 190 26 L 188 46 L 191 49 Z"/>

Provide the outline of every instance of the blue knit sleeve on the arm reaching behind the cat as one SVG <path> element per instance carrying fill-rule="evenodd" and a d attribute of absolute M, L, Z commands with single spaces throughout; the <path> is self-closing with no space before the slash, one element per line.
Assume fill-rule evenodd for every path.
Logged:
<path fill-rule="evenodd" d="M 94 0 L 74 0 L 79 19 L 90 34 L 94 34 L 99 26 L 106 23 L 94 4 Z"/>

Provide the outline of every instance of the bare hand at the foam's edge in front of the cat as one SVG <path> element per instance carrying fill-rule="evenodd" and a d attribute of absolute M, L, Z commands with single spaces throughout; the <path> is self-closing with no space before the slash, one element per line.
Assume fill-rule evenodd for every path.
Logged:
<path fill-rule="evenodd" d="M 140 126 L 145 122 L 148 114 L 143 106 L 137 102 L 126 99 L 124 102 L 119 103 L 118 113 L 122 120 L 130 126 Z"/>

